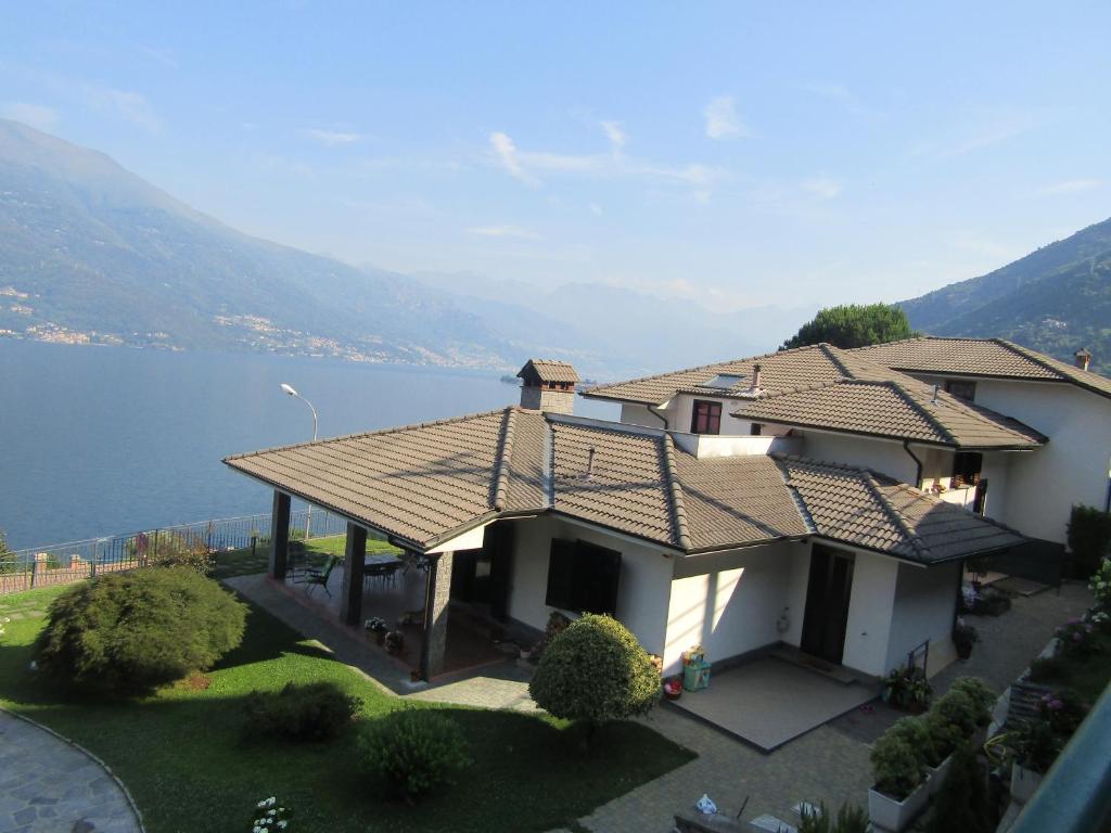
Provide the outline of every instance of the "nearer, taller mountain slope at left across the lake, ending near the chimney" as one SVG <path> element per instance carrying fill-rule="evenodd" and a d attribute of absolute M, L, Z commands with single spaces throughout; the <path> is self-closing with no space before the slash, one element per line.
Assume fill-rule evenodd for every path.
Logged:
<path fill-rule="evenodd" d="M 110 158 L 0 120 L 0 332 L 509 368 L 519 354 L 410 278 L 242 234 Z"/>

